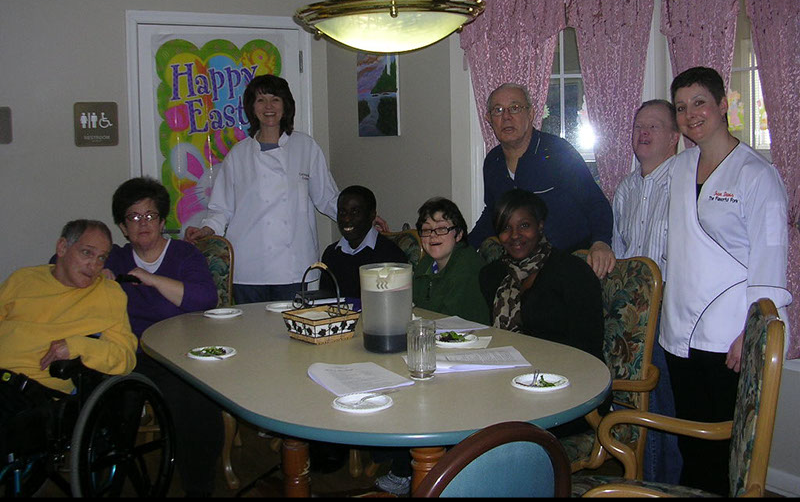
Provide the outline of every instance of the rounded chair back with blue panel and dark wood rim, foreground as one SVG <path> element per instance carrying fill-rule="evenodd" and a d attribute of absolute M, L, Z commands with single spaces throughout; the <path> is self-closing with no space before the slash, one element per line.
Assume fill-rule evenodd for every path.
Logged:
<path fill-rule="evenodd" d="M 570 468 L 551 433 L 527 422 L 482 429 L 445 453 L 414 497 L 569 497 Z"/>

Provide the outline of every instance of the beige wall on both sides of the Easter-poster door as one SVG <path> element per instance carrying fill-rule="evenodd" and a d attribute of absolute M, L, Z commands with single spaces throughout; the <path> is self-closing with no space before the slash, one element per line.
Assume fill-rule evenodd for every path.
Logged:
<path fill-rule="evenodd" d="M 126 10 L 291 16 L 306 3 L 0 0 L 0 106 L 11 108 L 14 136 L 0 145 L 0 280 L 47 261 L 66 221 L 113 223 L 111 194 L 130 177 Z M 311 45 L 313 135 L 337 183 L 372 188 L 393 229 L 413 223 L 426 198 L 451 192 L 448 42 L 401 55 L 402 135 L 395 138 L 358 137 L 355 53 L 324 40 Z M 117 103 L 119 145 L 75 146 L 72 107 L 79 101 Z M 330 220 L 318 221 L 324 246 L 338 233 Z"/>

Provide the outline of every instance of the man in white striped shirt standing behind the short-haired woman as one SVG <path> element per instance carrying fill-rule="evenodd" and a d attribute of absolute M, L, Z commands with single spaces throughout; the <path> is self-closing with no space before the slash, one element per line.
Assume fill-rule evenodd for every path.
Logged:
<path fill-rule="evenodd" d="M 634 116 L 632 146 L 640 169 L 617 187 L 614 194 L 612 249 L 617 258 L 647 256 L 666 276 L 667 208 L 672 160 L 680 132 L 675 108 L 663 99 L 646 101 Z M 675 416 L 664 349 L 653 347 L 653 364 L 661 371 L 658 386 L 650 393 L 650 411 Z M 649 431 L 645 450 L 644 478 L 678 483 L 682 462 L 675 436 Z"/>

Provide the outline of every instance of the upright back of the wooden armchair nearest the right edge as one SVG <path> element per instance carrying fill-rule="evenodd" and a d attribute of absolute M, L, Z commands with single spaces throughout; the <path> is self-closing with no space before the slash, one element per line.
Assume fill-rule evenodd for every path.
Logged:
<path fill-rule="evenodd" d="M 731 431 L 730 495 L 763 497 L 783 368 L 784 323 L 772 300 L 747 314 Z"/>

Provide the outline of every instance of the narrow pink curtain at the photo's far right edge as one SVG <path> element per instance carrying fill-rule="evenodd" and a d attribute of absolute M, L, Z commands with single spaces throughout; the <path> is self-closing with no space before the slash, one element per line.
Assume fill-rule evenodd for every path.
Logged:
<path fill-rule="evenodd" d="M 800 357 L 800 2 L 747 0 L 753 48 L 769 117 L 772 162 L 789 194 L 788 287 L 791 338 L 787 358 Z"/>

